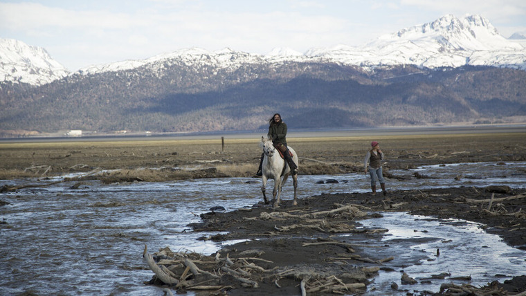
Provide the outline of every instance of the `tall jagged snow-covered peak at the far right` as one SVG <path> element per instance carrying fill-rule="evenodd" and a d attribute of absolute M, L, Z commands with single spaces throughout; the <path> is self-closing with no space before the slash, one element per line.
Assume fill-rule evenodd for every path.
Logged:
<path fill-rule="evenodd" d="M 484 65 L 526 69 L 525 48 L 500 36 L 487 19 L 478 15 L 462 19 L 446 15 L 431 23 L 383 35 L 365 46 L 316 48 L 305 55 L 359 66 Z"/>

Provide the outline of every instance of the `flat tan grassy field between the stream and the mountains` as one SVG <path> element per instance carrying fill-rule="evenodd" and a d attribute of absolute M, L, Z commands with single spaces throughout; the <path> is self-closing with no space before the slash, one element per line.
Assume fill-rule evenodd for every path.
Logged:
<path fill-rule="evenodd" d="M 289 138 L 300 174 L 360 172 L 370 141 L 386 155 L 386 170 L 438 163 L 525 161 L 526 132 Z M 0 179 L 100 172 L 103 181 L 253 176 L 260 139 L 0 142 Z M 116 171 L 113 171 L 116 170 Z"/>

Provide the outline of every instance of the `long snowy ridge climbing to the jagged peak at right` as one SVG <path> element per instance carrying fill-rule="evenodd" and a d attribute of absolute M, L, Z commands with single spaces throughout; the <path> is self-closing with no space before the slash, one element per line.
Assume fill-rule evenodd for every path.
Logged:
<path fill-rule="evenodd" d="M 427 24 L 383 35 L 364 46 L 311 48 L 304 54 L 290 48 L 275 48 L 267 55 L 241 53 L 229 48 L 216 52 L 188 48 L 140 61 L 91 66 L 82 69 L 80 73 L 93 74 L 146 65 L 158 66 L 158 62 L 173 62 L 174 59 L 187 65 L 206 64 L 218 68 L 291 61 L 336 62 L 363 67 L 410 64 L 437 68 L 473 65 L 526 70 L 526 49 L 517 42 L 499 35 L 487 19 L 479 15 L 467 15 L 461 19 L 446 15 Z"/>

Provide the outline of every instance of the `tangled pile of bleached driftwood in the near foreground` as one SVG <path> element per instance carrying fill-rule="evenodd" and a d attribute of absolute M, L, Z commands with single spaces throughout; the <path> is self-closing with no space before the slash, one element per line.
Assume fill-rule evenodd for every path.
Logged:
<path fill-rule="evenodd" d="M 260 281 L 272 279 L 278 288 L 279 279 L 284 277 L 298 279 L 302 294 L 308 293 L 350 293 L 365 288 L 362 283 L 345 283 L 334 275 L 323 277 L 316 273 L 309 275 L 296 274 L 294 270 L 282 270 L 276 266 L 267 269 L 248 261 L 263 261 L 253 257 L 221 258 L 219 254 L 203 256 L 196 253 L 172 252 L 169 248 L 160 250 L 154 255 L 143 251 L 143 257 L 149 269 L 154 272 L 150 284 L 173 286 L 176 290 L 215 290 L 214 293 L 225 293 L 232 288 L 258 288 Z M 162 258 L 162 259 L 161 259 Z M 377 272 L 379 268 L 368 268 L 364 272 Z M 358 281 L 359 279 L 351 279 Z M 224 283 L 229 283 L 226 286 Z M 170 290 L 165 290 L 170 293 Z"/>

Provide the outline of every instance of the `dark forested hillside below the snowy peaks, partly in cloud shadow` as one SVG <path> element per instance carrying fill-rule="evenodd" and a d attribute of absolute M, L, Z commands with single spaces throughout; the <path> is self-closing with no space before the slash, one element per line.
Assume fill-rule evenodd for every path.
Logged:
<path fill-rule="evenodd" d="M 166 63 L 39 87 L 2 84 L 0 129 L 253 130 L 275 112 L 297 129 L 509 122 L 526 115 L 525 82 L 525 71 L 477 66 Z"/>

